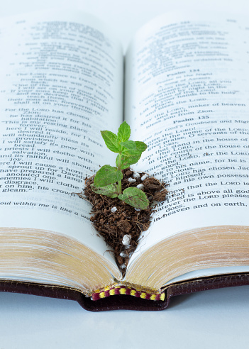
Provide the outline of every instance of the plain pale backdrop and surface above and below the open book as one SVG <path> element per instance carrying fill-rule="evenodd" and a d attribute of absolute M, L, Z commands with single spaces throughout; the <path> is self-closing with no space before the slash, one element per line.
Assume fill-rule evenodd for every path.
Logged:
<path fill-rule="evenodd" d="M 0 0 L 0 16 L 56 8 L 103 19 L 124 50 L 140 26 L 168 11 L 226 11 L 249 21 L 248 0 Z M 0 314 L 0 349 L 249 348 L 249 287 L 176 297 L 155 312 L 91 313 L 74 301 L 0 293 Z"/>

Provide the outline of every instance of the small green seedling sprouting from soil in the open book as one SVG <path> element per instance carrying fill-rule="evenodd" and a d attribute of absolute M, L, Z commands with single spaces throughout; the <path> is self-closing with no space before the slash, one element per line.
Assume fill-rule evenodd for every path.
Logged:
<path fill-rule="evenodd" d="M 123 173 L 121 170 L 135 164 L 140 159 L 147 145 L 143 142 L 128 140 L 131 135 L 131 128 L 124 121 L 118 128 L 118 134 L 111 131 L 101 131 L 107 148 L 114 153 L 116 157 L 116 167 L 110 165 L 102 166 L 94 177 L 94 183 L 91 185 L 96 194 L 106 195 L 111 198 L 118 197 L 135 209 L 148 209 L 149 201 L 146 194 L 137 187 L 129 187 L 123 190 L 121 180 Z"/>

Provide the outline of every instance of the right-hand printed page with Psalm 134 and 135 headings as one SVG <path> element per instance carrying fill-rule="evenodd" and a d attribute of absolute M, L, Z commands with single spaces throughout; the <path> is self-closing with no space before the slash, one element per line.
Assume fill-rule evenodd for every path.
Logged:
<path fill-rule="evenodd" d="M 126 56 L 126 121 L 148 150 L 136 170 L 170 184 L 133 259 L 175 233 L 248 226 L 249 27 L 217 14 L 148 23 Z"/>

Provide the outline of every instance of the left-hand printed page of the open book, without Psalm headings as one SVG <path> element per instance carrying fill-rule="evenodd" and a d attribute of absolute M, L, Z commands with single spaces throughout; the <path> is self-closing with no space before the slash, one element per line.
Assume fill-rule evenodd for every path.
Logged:
<path fill-rule="evenodd" d="M 91 205 L 72 193 L 115 161 L 100 131 L 123 118 L 121 45 L 96 18 L 63 11 L 1 21 L 0 43 L 1 227 L 60 232 L 103 255 Z"/>

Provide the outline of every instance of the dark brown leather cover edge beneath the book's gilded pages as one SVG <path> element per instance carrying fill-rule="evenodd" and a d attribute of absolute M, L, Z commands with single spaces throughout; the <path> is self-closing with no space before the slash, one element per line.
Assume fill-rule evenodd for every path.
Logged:
<path fill-rule="evenodd" d="M 165 299 L 150 300 L 140 297 L 133 297 L 128 294 L 118 294 L 111 297 L 104 297 L 94 301 L 86 297 L 77 289 L 60 287 L 49 284 L 38 284 L 30 282 L 19 282 L 4 280 L 0 282 L 0 292 L 14 292 L 21 294 L 33 294 L 35 296 L 52 297 L 58 299 L 70 299 L 77 301 L 82 308 L 88 311 L 109 311 L 109 310 L 140 310 L 157 311 L 166 309 L 170 305 L 172 297 L 193 292 L 218 289 L 222 287 L 235 287 L 249 284 L 249 273 L 219 275 L 215 277 L 203 277 L 189 280 L 168 286 L 165 292 Z"/>

